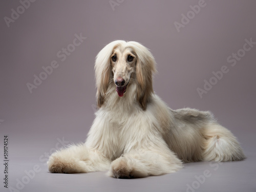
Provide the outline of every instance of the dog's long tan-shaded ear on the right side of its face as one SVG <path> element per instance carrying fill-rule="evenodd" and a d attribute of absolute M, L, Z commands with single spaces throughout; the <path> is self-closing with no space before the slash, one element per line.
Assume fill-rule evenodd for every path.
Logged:
<path fill-rule="evenodd" d="M 146 110 L 147 102 L 153 91 L 152 75 L 156 72 L 156 62 L 151 52 L 139 44 L 130 41 L 137 55 L 136 63 L 136 83 L 137 83 L 137 101 L 141 108 Z"/>

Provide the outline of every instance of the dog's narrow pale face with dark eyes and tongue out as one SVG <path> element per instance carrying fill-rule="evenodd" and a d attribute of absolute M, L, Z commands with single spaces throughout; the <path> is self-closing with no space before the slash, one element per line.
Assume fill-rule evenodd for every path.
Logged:
<path fill-rule="evenodd" d="M 136 55 L 129 48 L 124 50 L 119 47 L 113 50 L 111 55 L 111 66 L 114 74 L 114 83 L 119 97 L 122 97 L 136 71 Z"/>

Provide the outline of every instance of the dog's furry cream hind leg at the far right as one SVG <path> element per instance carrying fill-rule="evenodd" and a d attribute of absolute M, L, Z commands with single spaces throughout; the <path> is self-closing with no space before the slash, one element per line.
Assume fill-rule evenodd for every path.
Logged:
<path fill-rule="evenodd" d="M 218 123 L 209 123 L 202 130 L 205 138 L 204 161 L 239 161 L 245 158 L 236 137 Z"/>

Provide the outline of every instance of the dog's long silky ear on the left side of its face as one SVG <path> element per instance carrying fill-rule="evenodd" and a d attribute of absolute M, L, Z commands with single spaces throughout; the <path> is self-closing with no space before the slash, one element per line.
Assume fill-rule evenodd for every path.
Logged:
<path fill-rule="evenodd" d="M 113 49 L 122 42 L 122 40 L 116 40 L 111 42 L 110 44 L 106 45 L 96 56 L 94 70 L 97 87 L 96 99 L 98 108 L 100 108 L 103 104 L 105 93 L 109 87 L 112 70 L 110 56 L 112 55 Z"/>

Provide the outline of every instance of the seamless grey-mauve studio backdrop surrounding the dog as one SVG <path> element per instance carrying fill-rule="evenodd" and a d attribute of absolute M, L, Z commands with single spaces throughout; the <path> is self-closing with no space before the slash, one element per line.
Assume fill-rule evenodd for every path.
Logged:
<path fill-rule="evenodd" d="M 48 173 L 44 163 L 49 153 L 86 139 L 96 110 L 95 56 L 110 41 L 123 39 L 152 51 L 158 63 L 154 90 L 170 108 L 213 112 L 244 148 L 245 161 L 224 163 L 197 190 L 253 191 L 255 9 L 255 1 L 234 0 L 1 1 L 0 146 L 3 149 L 8 135 L 9 187 L 26 176 L 25 170 L 40 165 L 40 172 L 20 191 L 185 191 L 201 173 L 198 170 L 209 167 L 203 162 L 186 164 L 180 173 L 134 181 L 114 180 L 104 173 Z M 83 39 L 73 42 L 75 34 Z M 244 47 L 247 41 L 252 43 Z M 62 48 L 70 50 L 66 58 Z M 44 76 L 42 67 L 53 61 L 58 67 Z M 228 72 L 212 78 L 223 66 Z M 33 84 L 34 75 L 40 74 L 46 79 L 30 93 L 27 83 Z M 214 85 L 200 98 L 197 88 L 204 89 L 205 80 Z M 232 178 L 237 174 L 242 175 Z"/>

